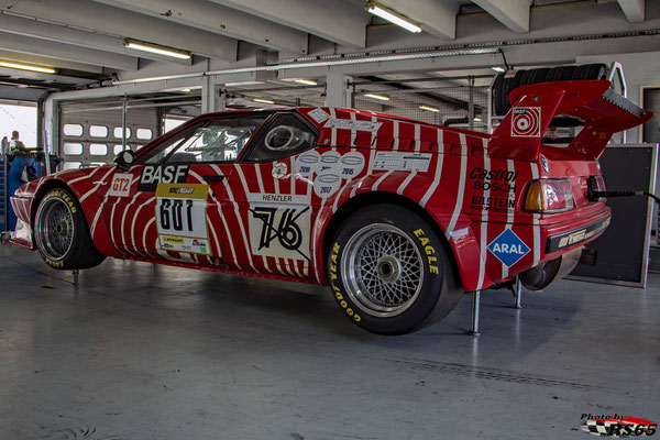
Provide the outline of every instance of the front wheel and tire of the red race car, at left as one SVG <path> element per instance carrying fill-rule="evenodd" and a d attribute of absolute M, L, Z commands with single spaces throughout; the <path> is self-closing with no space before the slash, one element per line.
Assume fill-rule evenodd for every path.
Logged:
<path fill-rule="evenodd" d="M 106 258 L 91 242 L 80 204 L 65 188 L 52 189 L 40 200 L 34 238 L 42 258 L 54 268 L 89 268 Z"/>

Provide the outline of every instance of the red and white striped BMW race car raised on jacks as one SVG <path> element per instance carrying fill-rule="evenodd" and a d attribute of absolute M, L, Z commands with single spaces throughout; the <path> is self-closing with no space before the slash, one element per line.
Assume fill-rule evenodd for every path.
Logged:
<path fill-rule="evenodd" d="M 518 88 L 492 135 L 349 109 L 202 114 L 23 186 L 11 241 L 59 270 L 112 256 L 329 284 L 358 326 L 410 332 L 464 292 L 542 288 L 607 228 L 598 156 L 652 116 L 609 87 Z M 584 123 L 564 147 L 541 143 L 558 114 Z"/>

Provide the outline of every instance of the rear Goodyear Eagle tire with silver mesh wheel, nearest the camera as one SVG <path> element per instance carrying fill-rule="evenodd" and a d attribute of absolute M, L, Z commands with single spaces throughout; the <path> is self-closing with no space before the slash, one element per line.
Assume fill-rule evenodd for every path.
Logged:
<path fill-rule="evenodd" d="M 415 212 L 389 204 L 353 213 L 328 258 L 344 314 L 378 334 L 405 334 L 453 310 L 463 295 L 446 244 Z"/>

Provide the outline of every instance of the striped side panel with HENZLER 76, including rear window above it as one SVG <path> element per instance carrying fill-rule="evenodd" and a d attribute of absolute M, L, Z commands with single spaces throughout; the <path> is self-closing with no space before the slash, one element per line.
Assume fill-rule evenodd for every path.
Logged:
<path fill-rule="evenodd" d="M 227 252 L 242 270 L 305 277 L 311 263 L 312 184 L 295 172 L 296 155 L 316 144 L 317 130 L 295 112 L 274 114 L 241 160 L 223 170 L 220 201 Z"/>

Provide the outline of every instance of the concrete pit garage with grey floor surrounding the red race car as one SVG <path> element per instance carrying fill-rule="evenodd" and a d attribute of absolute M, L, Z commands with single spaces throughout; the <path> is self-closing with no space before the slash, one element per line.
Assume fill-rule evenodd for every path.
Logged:
<path fill-rule="evenodd" d="M 613 140 L 647 155 L 603 161 L 608 189 L 641 175 L 658 194 L 658 1 L 0 0 L 0 105 L 36 107 L 44 174 L 223 110 L 355 108 L 490 133 L 497 75 L 593 64 L 656 112 Z M 520 308 L 482 292 L 479 337 L 468 294 L 388 338 L 342 318 L 324 286 L 113 258 L 75 278 L 2 244 L 0 439 L 566 439 L 587 438 L 585 414 L 658 421 L 658 215 L 617 202 L 627 261 L 525 290 Z"/>

